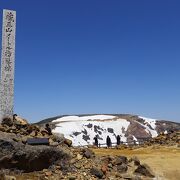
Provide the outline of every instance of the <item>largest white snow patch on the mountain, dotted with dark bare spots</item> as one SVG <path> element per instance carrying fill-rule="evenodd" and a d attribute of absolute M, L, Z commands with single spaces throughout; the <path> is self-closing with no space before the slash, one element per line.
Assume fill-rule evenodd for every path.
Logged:
<path fill-rule="evenodd" d="M 116 142 L 117 135 L 121 135 L 121 141 L 125 142 L 124 132 L 130 122 L 114 118 L 116 116 L 110 115 L 66 116 L 53 121 L 58 123 L 53 132 L 63 133 L 66 138 L 72 140 L 74 146 L 92 145 L 96 135 L 100 138 L 100 144 L 106 143 L 108 135 L 112 142 Z"/>

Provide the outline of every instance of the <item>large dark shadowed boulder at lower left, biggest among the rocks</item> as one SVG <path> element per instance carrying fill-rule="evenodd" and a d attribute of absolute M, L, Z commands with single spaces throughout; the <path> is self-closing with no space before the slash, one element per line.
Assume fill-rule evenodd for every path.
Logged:
<path fill-rule="evenodd" d="M 68 161 L 68 154 L 60 148 L 49 146 L 20 146 L 13 150 L 10 144 L 1 146 L 6 148 L 9 154 L 1 156 L 0 168 L 5 169 L 19 169 L 24 172 L 40 171 L 56 165 L 60 162 L 66 164 Z"/>

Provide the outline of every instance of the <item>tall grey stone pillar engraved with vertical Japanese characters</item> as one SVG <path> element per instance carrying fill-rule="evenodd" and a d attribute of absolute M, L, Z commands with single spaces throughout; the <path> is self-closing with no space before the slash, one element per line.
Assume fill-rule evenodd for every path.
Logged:
<path fill-rule="evenodd" d="M 4 117 L 12 117 L 13 115 L 15 33 L 16 12 L 12 10 L 3 10 L 0 79 L 0 123 Z"/>

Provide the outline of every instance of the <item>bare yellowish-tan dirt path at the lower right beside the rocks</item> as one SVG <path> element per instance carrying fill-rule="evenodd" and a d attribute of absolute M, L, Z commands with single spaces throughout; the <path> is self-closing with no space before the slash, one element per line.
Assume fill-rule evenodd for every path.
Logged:
<path fill-rule="evenodd" d="M 96 155 L 137 156 L 141 163 L 148 164 L 158 180 L 180 180 L 180 148 L 148 147 L 134 150 L 93 149 Z"/>

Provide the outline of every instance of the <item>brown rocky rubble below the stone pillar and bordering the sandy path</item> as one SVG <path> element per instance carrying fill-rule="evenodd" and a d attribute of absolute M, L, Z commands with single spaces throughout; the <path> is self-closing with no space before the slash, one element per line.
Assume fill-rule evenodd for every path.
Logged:
<path fill-rule="evenodd" d="M 161 135 L 156 140 L 179 146 L 179 134 Z M 49 145 L 28 145 L 28 138 L 48 138 Z M 175 138 L 176 137 L 176 138 Z M 158 139 L 159 138 L 159 139 Z M 161 140 L 160 140 L 161 139 Z M 173 143 L 172 143 L 173 142 Z M 129 147 L 120 146 L 128 150 Z M 140 147 L 130 147 L 140 148 Z M 142 147 L 141 147 L 142 148 Z M 45 128 L 27 121 L 6 119 L 0 125 L 0 179 L 155 179 L 156 175 L 138 157 L 121 153 L 96 155 L 97 149 L 73 148 L 71 141 L 50 134 Z M 110 151 L 111 152 L 111 151 Z"/>

